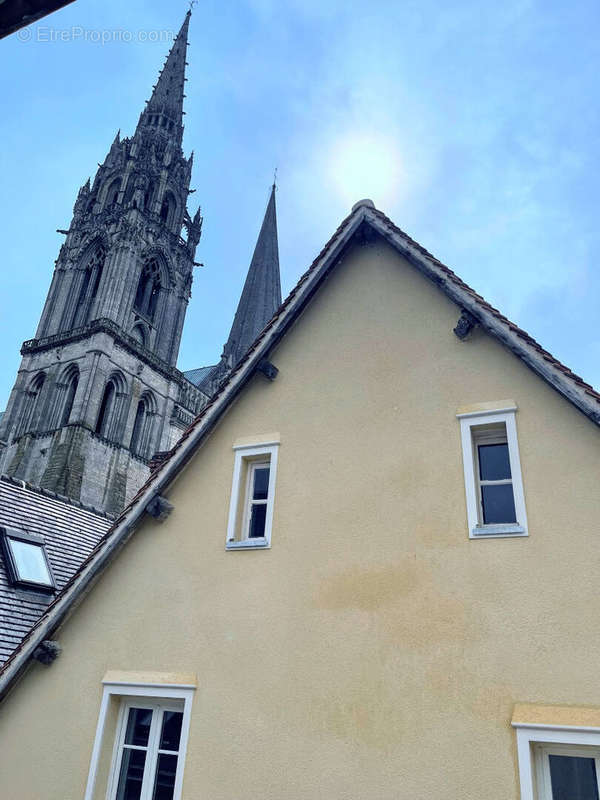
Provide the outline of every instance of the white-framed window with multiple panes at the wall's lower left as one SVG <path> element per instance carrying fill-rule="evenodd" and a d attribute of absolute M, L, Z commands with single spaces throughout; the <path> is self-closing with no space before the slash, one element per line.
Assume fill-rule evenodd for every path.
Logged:
<path fill-rule="evenodd" d="M 105 680 L 103 688 L 85 800 L 180 800 L 195 685 Z M 110 771 L 98 793 L 107 747 Z"/>

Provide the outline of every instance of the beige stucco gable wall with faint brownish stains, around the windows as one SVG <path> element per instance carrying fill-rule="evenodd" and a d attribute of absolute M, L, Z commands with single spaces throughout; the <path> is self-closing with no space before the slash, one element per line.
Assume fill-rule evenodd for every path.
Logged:
<path fill-rule="evenodd" d="M 600 706 L 600 433 L 457 317 L 347 256 L 0 708 L 3 797 L 82 797 L 108 669 L 198 675 L 187 800 L 518 797 L 515 703 Z M 530 536 L 472 541 L 455 414 L 507 397 Z M 226 552 L 232 444 L 273 430 L 272 548 Z"/>

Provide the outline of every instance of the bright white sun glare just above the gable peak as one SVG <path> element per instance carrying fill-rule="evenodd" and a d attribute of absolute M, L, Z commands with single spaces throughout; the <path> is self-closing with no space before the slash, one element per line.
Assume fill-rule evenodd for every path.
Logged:
<path fill-rule="evenodd" d="M 368 197 L 389 206 L 399 191 L 401 163 L 395 144 L 385 136 L 353 135 L 334 146 L 331 178 L 346 205 Z"/>

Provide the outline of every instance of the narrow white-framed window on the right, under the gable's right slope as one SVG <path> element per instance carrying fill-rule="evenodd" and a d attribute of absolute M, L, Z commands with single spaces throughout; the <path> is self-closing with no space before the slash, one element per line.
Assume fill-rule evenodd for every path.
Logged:
<path fill-rule="evenodd" d="M 471 538 L 527 536 L 516 410 L 457 414 Z"/>

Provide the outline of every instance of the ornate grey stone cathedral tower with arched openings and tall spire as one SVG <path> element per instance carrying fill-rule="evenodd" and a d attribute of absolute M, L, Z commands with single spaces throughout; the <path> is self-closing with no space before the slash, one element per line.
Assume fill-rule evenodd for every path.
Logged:
<path fill-rule="evenodd" d="M 0 425 L 1 473 L 109 512 L 207 399 L 175 367 L 202 226 L 181 146 L 189 21 L 135 133 L 79 191 Z"/>

